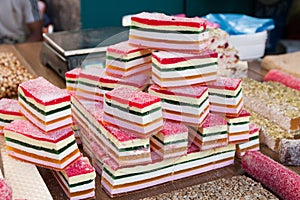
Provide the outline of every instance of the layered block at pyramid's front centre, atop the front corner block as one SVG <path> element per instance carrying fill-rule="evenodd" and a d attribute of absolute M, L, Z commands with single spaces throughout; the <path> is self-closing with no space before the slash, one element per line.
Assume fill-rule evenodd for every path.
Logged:
<path fill-rule="evenodd" d="M 103 120 L 138 137 L 149 137 L 163 126 L 160 98 L 127 87 L 116 88 L 105 94 Z"/>

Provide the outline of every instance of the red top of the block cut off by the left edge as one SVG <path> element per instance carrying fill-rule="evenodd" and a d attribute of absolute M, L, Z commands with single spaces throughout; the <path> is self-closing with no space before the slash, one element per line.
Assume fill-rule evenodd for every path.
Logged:
<path fill-rule="evenodd" d="M 18 100 L 15 99 L 2 98 L 0 100 L 0 113 L 15 116 L 23 116 L 19 110 Z"/>

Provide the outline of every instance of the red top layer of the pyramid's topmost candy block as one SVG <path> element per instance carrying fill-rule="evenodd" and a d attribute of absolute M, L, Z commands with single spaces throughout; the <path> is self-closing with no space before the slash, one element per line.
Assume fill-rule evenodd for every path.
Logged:
<path fill-rule="evenodd" d="M 142 12 L 131 17 L 131 21 L 152 26 L 189 26 L 206 29 L 207 21 L 201 18 L 167 16 L 162 13 Z"/>

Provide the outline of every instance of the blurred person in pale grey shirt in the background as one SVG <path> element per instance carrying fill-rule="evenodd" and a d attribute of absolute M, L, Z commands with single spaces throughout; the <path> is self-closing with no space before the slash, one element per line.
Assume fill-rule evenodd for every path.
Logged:
<path fill-rule="evenodd" d="M 42 41 L 37 0 L 0 0 L 0 44 Z"/>

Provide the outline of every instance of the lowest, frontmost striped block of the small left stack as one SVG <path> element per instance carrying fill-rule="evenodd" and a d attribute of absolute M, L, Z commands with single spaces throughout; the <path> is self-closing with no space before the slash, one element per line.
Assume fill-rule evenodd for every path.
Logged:
<path fill-rule="evenodd" d="M 95 197 L 96 172 L 87 157 L 81 157 L 62 171 L 52 171 L 69 199 Z"/>

